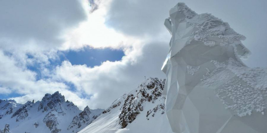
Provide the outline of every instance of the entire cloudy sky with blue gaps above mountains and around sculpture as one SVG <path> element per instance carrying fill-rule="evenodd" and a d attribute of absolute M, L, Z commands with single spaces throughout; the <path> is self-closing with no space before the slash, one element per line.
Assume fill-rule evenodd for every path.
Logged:
<path fill-rule="evenodd" d="M 165 78 L 164 21 L 177 2 L 228 22 L 247 37 L 247 66 L 267 66 L 265 0 L 1 1 L 0 99 L 59 91 L 81 110 L 105 109 L 144 76 Z"/>

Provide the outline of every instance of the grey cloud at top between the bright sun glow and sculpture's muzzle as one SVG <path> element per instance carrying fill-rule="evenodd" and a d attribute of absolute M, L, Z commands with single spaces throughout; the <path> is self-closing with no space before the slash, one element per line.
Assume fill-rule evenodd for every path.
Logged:
<path fill-rule="evenodd" d="M 158 37 L 165 33 L 165 18 L 176 4 L 177 0 L 113 0 L 105 24 L 124 34 Z"/>

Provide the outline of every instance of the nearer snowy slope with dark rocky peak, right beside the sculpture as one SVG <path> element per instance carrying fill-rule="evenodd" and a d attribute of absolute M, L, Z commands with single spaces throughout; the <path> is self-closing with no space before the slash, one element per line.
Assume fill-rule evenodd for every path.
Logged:
<path fill-rule="evenodd" d="M 165 79 L 148 78 L 79 133 L 172 133 L 162 95 Z"/>

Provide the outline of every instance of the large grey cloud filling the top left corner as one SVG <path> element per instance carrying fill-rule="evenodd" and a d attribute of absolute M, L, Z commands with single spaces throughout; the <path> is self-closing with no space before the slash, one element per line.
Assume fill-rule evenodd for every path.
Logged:
<path fill-rule="evenodd" d="M 2 1 L 0 12 L 0 40 L 27 49 L 60 46 L 63 31 L 86 19 L 78 0 Z"/>

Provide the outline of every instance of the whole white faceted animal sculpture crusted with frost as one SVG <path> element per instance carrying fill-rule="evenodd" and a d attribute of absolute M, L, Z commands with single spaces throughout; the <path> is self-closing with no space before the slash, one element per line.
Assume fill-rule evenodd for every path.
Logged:
<path fill-rule="evenodd" d="M 172 36 L 162 66 L 172 131 L 266 133 L 267 70 L 242 63 L 250 54 L 245 37 L 184 3 L 171 8 L 164 25 Z"/>

